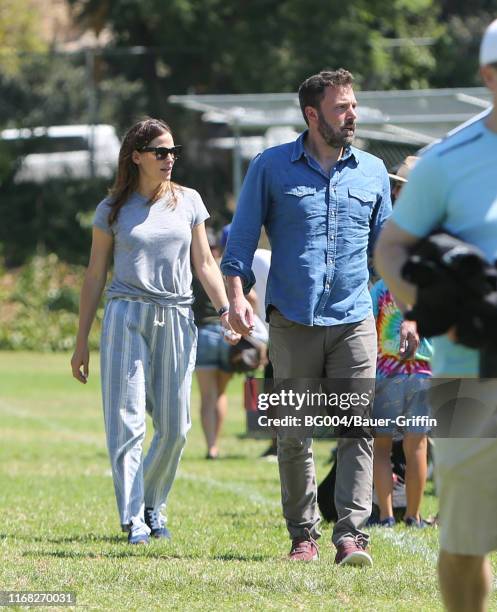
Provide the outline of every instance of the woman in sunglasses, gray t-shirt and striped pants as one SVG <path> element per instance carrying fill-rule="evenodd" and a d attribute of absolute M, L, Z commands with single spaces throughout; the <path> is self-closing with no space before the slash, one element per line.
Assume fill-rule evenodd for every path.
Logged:
<path fill-rule="evenodd" d="M 107 446 L 123 531 L 130 544 L 169 538 L 165 505 L 190 429 L 197 330 L 195 272 L 218 310 L 227 338 L 228 299 L 205 232 L 200 195 L 171 180 L 180 147 L 171 129 L 146 119 L 126 133 L 116 181 L 97 207 L 90 262 L 81 290 L 73 376 L 88 378 L 88 335 L 107 279 L 101 382 Z M 154 436 L 143 459 L 145 411 Z"/>

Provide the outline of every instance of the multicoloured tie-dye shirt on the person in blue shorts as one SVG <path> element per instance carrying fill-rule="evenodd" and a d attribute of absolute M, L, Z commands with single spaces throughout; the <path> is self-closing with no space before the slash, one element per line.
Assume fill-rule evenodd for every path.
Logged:
<path fill-rule="evenodd" d="M 383 280 L 371 288 L 373 313 L 378 334 L 377 378 L 387 378 L 398 374 L 431 374 L 430 360 L 433 354 L 431 342 L 420 338 L 418 350 L 411 359 L 399 357 L 400 325 L 402 313 L 397 308 L 393 296 Z"/>

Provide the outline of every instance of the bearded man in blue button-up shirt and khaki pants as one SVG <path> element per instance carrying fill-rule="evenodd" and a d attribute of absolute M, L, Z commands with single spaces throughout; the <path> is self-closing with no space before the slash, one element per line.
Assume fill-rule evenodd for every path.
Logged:
<path fill-rule="evenodd" d="M 264 225 L 272 247 L 266 291 L 275 379 L 374 379 L 376 330 L 368 254 L 391 212 L 384 164 L 351 146 L 353 77 L 322 71 L 299 88 L 308 129 L 267 149 L 245 177 L 222 262 L 229 320 L 247 334 L 252 257 Z M 312 439 L 281 436 L 278 462 L 290 559 L 318 557 L 319 514 Z M 338 441 L 333 532 L 337 564 L 371 565 L 362 526 L 371 511 L 372 440 Z"/>

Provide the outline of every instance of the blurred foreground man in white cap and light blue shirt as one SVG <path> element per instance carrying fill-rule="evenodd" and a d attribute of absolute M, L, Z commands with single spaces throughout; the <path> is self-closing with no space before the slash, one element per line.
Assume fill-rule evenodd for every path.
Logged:
<path fill-rule="evenodd" d="M 482 39 L 480 72 L 493 95 L 491 112 L 427 151 L 378 243 L 378 271 L 407 305 L 416 302 L 416 289 L 402 279 L 401 269 L 410 249 L 435 230 L 477 246 L 489 263 L 497 258 L 497 20 Z M 452 331 L 433 343 L 434 376 L 478 375 L 478 351 L 458 344 Z M 495 414 L 489 426 L 492 419 Z M 483 430 L 485 423 L 469 425 Z M 435 447 L 439 578 L 450 611 L 487 609 L 492 586 L 487 555 L 497 550 L 497 440 L 470 435 L 439 438 Z"/>

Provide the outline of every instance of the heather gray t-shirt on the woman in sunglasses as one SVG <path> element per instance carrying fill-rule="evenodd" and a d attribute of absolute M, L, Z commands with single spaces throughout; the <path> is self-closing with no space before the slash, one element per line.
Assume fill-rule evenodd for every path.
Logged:
<path fill-rule="evenodd" d="M 193 302 L 192 229 L 209 213 L 199 193 L 177 188 L 173 208 L 167 195 L 153 204 L 134 193 L 109 226 L 110 198 L 97 206 L 93 225 L 114 238 L 114 276 L 107 297 L 142 299 L 160 306 Z"/>

